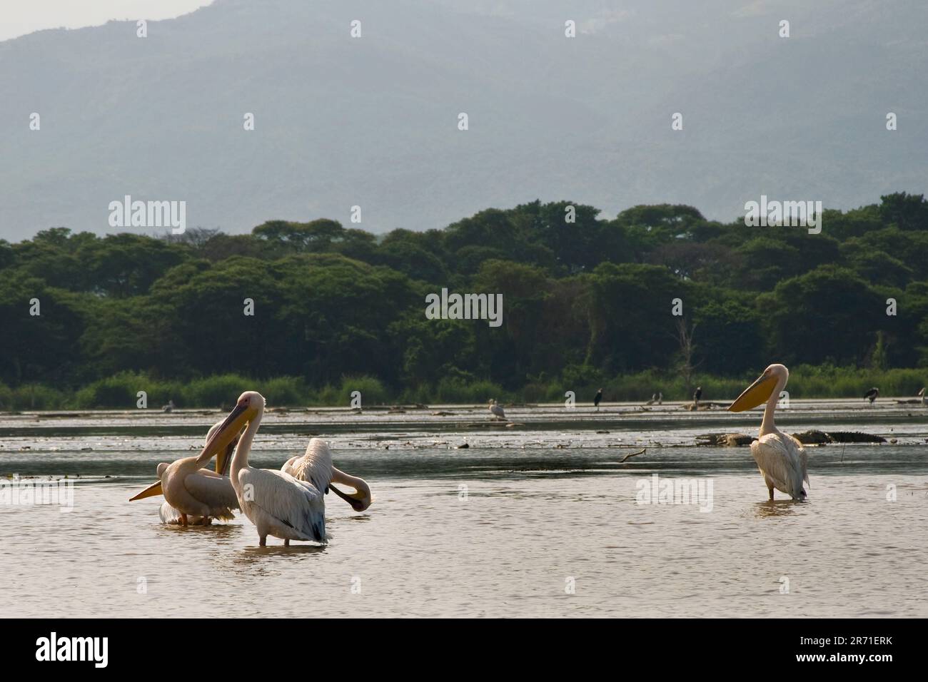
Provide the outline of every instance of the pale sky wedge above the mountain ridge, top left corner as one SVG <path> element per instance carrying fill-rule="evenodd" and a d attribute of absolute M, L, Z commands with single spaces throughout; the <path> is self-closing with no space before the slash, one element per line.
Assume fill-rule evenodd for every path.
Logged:
<path fill-rule="evenodd" d="M 168 19 L 213 0 L 2 0 L 0 40 L 42 29 L 99 26 L 110 19 Z"/>

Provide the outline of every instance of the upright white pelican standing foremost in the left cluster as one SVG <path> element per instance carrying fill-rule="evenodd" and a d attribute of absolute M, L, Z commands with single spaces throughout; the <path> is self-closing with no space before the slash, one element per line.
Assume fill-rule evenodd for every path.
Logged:
<path fill-rule="evenodd" d="M 317 452 L 315 448 L 310 452 L 307 448 L 306 455 L 284 465 L 290 465 L 293 470 L 303 470 L 308 481 L 302 481 L 287 471 L 250 467 L 248 454 L 263 415 L 264 397 L 261 393 L 242 393 L 200 457 L 208 459 L 213 453 L 226 448 L 247 424 L 232 456 L 229 478 L 238 496 L 238 506 L 258 529 L 259 544 L 264 547 L 268 535 L 279 537 L 285 545 L 290 545 L 290 540 L 324 543 L 327 541 L 324 496 L 333 473 L 329 448 L 326 447 L 324 452 Z M 360 479 L 354 481 L 359 482 Z M 348 483 L 354 485 L 351 481 Z"/>

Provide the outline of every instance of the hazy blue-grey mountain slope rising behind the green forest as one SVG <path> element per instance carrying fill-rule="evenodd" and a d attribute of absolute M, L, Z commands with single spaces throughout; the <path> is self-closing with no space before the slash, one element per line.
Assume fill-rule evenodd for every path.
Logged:
<path fill-rule="evenodd" d="M 114 231 L 126 194 L 241 232 L 354 204 L 384 231 L 535 198 L 728 219 L 922 193 L 926 25 L 921 0 L 216 0 L 144 39 L 36 32 L 0 43 L 0 238 Z"/>

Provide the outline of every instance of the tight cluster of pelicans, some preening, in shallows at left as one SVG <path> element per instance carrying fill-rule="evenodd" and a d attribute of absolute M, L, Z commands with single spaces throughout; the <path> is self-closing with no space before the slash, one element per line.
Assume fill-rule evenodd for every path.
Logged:
<path fill-rule="evenodd" d="M 248 464 L 251 443 L 264 416 L 264 397 L 246 391 L 228 416 L 213 425 L 197 457 L 184 457 L 158 465 L 158 481 L 130 501 L 164 495 L 161 521 L 210 524 L 229 520 L 241 509 L 258 529 L 259 544 L 267 536 L 325 543 L 326 502 L 329 490 L 355 511 L 364 511 L 373 498 L 363 479 L 350 476 L 332 464 L 324 441 L 313 438 L 301 457 L 290 457 L 280 470 L 255 469 Z M 216 457 L 214 470 L 206 469 Z M 345 493 L 333 483 L 354 488 Z"/>

